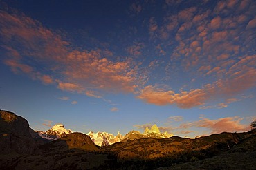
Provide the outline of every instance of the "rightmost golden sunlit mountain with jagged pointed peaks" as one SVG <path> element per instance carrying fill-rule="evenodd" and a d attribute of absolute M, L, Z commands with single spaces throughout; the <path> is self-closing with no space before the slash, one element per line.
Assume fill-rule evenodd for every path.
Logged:
<path fill-rule="evenodd" d="M 127 140 L 135 140 L 140 138 L 170 138 L 173 134 L 169 134 L 167 131 L 161 133 L 157 127 L 157 125 L 153 125 L 150 129 L 146 127 L 144 133 L 140 133 L 140 131 L 130 131 L 125 137 L 122 139 L 123 142 Z"/>

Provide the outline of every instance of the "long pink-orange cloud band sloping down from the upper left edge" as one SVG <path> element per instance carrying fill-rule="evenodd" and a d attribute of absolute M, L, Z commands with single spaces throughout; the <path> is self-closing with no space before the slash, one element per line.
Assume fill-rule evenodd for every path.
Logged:
<path fill-rule="evenodd" d="M 142 74 L 138 74 L 140 63 L 131 58 L 112 61 L 104 58 L 106 52 L 111 53 L 109 50 L 73 49 L 62 36 L 25 14 L 1 11 L 0 18 L 1 41 L 8 54 L 4 61 L 12 72 L 27 74 L 64 91 L 96 98 L 101 95 L 92 95 L 95 90 L 134 92 L 145 81 Z M 139 49 L 133 52 L 140 53 Z M 42 67 L 44 70 L 39 69 Z"/>

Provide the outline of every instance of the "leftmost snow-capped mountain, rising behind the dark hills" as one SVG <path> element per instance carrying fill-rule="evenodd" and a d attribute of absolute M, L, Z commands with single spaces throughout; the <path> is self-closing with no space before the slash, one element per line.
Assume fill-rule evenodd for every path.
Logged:
<path fill-rule="evenodd" d="M 48 131 L 36 131 L 39 136 L 42 138 L 45 138 L 47 140 L 56 140 L 57 138 L 61 138 L 66 136 L 67 134 L 73 133 L 73 131 L 69 129 L 65 129 L 64 125 L 57 124 L 54 125 L 51 129 L 48 129 Z"/>

